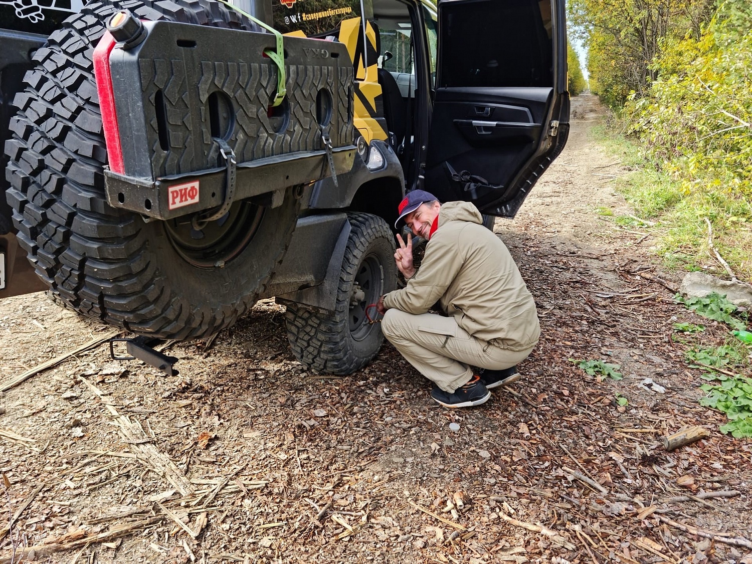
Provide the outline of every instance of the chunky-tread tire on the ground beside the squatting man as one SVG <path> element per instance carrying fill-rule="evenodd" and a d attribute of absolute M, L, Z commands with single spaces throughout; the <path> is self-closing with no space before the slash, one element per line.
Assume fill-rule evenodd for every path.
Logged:
<path fill-rule="evenodd" d="M 371 214 L 347 214 L 350 237 L 344 251 L 333 314 L 304 305 L 290 304 L 285 313 L 287 338 L 296 359 L 314 371 L 347 375 L 363 368 L 376 356 L 384 335 L 378 323 L 362 326 L 365 335 L 353 338 L 350 329 L 350 296 L 359 269 L 366 261 L 378 262 L 383 277 L 381 287 L 366 290 L 366 302 L 372 303 L 396 288 L 394 235 L 381 217 Z M 372 302 L 371 302 L 372 300 Z M 374 308 L 371 315 L 375 315 Z"/>

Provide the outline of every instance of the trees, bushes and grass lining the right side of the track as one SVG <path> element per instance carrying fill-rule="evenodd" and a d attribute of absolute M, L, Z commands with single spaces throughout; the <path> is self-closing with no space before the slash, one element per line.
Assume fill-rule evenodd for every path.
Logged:
<path fill-rule="evenodd" d="M 669 266 L 750 280 L 752 5 L 570 0 L 569 31 L 589 74 L 570 46 L 570 92 L 611 108 L 599 135 L 632 170 L 616 181 L 635 217 L 614 219 L 653 228 Z"/>

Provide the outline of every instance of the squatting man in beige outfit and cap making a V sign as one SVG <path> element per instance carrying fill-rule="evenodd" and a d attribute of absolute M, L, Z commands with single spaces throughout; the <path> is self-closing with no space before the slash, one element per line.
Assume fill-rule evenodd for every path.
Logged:
<path fill-rule="evenodd" d="M 381 329 L 434 382 L 436 402 L 481 405 L 490 388 L 520 378 L 517 363 L 540 335 L 535 302 L 507 247 L 483 226 L 474 205 L 441 205 L 431 193 L 413 190 L 399 204 L 396 229 L 403 222 L 429 243 L 416 271 L 411 235 L 407 242 L 397 235 L 394 258 L 407 285 L 379 299 Z M 446 317 L 428 313 L 436 306 Z M 482 368 L 481 374 L 470 366 Z"/>

